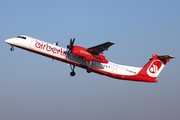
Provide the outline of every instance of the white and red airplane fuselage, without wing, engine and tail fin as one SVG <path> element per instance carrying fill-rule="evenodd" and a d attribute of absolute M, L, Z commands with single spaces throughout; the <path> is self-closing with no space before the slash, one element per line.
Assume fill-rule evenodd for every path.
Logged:
<path fill-rule="evenodd" d="M 28 36 L 18 36 L 16 38 L 7 39 L 6 42 L 12 46 L 31 51 L 58 61 L 62 61 L 68 64 L 72 64 L 84 69 L 87 69 L 87 63 L 84 58 L 76 54 L 72 54 L 68 49 L 50 44 L 32 37 Z M 141 82 L 157 82 L 153 79 L 146 79 L 145 77 L 139 75 L 141 68 L 119 65 L 113 62 L 100 63 L 92 61 L 91 65 L 92 72 L 101 75 L 106 75 L 116 79 L 125 79 L 132 81 Z"/>

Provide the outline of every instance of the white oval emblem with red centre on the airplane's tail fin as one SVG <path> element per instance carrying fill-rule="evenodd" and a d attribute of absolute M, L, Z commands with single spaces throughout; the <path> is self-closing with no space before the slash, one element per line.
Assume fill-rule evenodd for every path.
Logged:
<path fill-rule="evenodd" d="M 147 74 L 151 77 L 157 77 L 158 74 L 161 72 L 162 68 L 163 67 L 161 61 L 154 60 L 147 69 Z"/>

